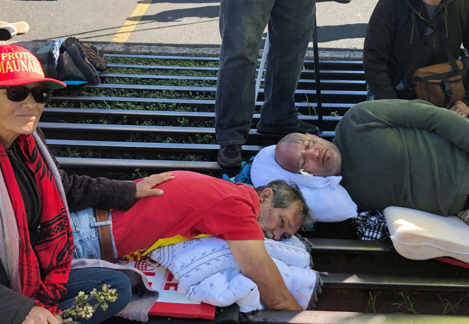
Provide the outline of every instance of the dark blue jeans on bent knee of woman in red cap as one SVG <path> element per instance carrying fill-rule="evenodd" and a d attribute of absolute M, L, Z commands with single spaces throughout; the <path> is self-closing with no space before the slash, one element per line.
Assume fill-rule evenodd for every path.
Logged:
<path fill-rule="evenodd" d="M 101 290 L 103 284 L 110 284 L 111 288 L 117 289 L 117 300 L 108 302 L 108 309 L 103 311 L 101 307 L 96 308 L 93 316 L 89 320 L 77 319 L 79 323 L 97 324 L 112 317 L 121 311 L 132 297 L 132 289 L 127 275 L 120 271 L 104 269 L 104 268 L 82 268 L 72 269 L 65 284 L 67 294 L 59 303 L 59 309 L 64 311 L 69 308 L 78 292 L 83 291 L 89 295 L 89 292 L 96 288 Z M 90 305 L 94 305 L 97 301 L 93 299 L 89 301 Z M 72 317 L 73 318 L 73 317 Z"/>

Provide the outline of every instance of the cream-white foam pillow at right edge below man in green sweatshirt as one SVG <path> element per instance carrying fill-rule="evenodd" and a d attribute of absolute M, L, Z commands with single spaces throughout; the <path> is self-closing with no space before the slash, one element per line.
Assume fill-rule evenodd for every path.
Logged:
<path fill-rule="evenodd" d="M 469 225 L 457 216 L 395 206 L 385 208 L 383 214 L 394 248 L 402 257 L 452 257 L 469 263 Z"/>

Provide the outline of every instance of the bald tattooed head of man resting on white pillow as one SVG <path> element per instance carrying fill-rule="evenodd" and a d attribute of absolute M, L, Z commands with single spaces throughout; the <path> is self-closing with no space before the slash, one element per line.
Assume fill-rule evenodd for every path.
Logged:
<path fill-rule="evenodd" d="M 301 169 L 317 176 L 338 175 L 342 163 L 339 149 L 331 142 L 312 134 L 291 133 L 275 148 L 275 161 L 287 171 Z"/>

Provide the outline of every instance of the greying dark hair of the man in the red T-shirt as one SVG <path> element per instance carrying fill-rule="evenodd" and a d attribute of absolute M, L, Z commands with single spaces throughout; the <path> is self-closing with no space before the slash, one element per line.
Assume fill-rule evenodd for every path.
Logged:
<path fill-rule="evenodd" d="M 311 210 L 306 204 L 303 194 L 296 183 L 287 183 L 285 180 L 273 180 L 267 185 L 259 186 L 256 188 L 257 194 L 261 194 L 266 188 L 273 191 L 273 207 L 274 208 L 288 208 L 294 203 L 299 203 L 301 218 L 303 219 L 303 226 L 313 223 Z"/>

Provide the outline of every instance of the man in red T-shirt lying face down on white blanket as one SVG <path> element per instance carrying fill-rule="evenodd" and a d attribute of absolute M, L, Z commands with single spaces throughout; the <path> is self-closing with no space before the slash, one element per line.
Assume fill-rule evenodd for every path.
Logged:
<path fill-rule="evenodd" d="M 161 173 L 165 174 L 171 173 Z M 264 237 L 290 238 L 308 219 L 310 210 L 298 188 L 278 180 L 254 190 L 200 173 L 172 175 L 156 186 L 164 194 L 135 199 L 127 211 L 111 210 L 111 233 L 105 242 L 111 257 L 139 259 L 159 246 L 217 236 L 228 242 L 241 271 L 257 284 L 268 308 L 301 310 L 264 245 Z M 89 235 L 97 225 L 94 214 L 102 212 L 70 213 L 75 258 L 101 259 L 105 254 L 101 253 L 106 250 L 104 239 Z M 104 213 L 109 216 L 109 211 Z"/>

